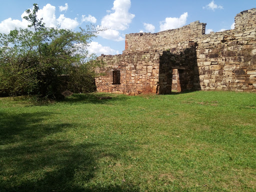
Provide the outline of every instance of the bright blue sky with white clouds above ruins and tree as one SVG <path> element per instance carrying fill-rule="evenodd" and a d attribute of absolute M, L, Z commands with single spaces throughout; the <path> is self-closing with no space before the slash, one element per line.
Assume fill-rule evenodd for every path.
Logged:
<path fill-rule="evenodd" d="M 195 20 L 207 23 L 207 32 L 228 30 L 237 13 L 256 7 L 255 0 L 0 0 L 0 32 L 27 26 L 21 16 L 33 3 L 46 26 L 109 28 L 88 47 L 97 55 L 122 53 L 127 33 L 158 32 Z"/>

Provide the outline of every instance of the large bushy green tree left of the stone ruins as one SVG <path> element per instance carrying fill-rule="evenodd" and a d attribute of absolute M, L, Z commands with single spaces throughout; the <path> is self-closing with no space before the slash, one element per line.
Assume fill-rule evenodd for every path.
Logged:
<path fill-rule="evenodd" d="M 63 84 L 71 91 L 88 91 L 94 67 L 101 63 L 86 48 L 104 28 L 48 28 L 37 18 L 38 9 L 33 4 L 32 11 L 26 10 L 29 29 L 0 33 L 0 94 L 57 97 Z"/>

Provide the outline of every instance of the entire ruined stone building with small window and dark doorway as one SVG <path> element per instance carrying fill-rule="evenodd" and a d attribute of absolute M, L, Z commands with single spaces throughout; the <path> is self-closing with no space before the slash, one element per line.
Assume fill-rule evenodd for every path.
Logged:
<path fill-rule="evenodd" d="M 256 8 L 235 16 L 235 27 L 205 34 L 191 22 L 157 33 L 125 35 L 122 54 L 101 55 L 97 91 L 137 95 L 173 90 L 256 92 Z"/>

